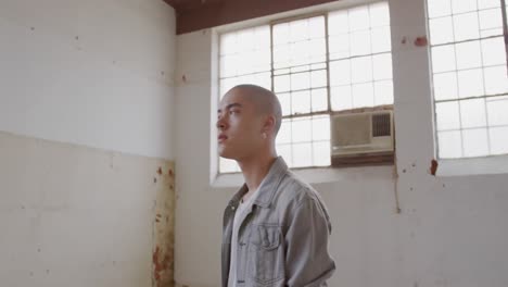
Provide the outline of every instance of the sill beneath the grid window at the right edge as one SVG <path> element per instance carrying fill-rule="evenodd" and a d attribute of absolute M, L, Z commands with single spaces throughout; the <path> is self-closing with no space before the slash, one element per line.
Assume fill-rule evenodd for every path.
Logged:
<path fill-rule="evenodd" d="M 471 159 L 440 160 L 436 176 L 508 174 L 508 154 Z"/>

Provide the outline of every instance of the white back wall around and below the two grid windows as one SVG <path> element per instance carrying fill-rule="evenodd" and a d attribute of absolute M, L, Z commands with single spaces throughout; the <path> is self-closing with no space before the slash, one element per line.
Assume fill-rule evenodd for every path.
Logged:
<path fill-rule="evenodd" d="M 330 286 L 508 286 L 508 177 L 429 174 L 428 48 L 412 45 L 426 35 L 424 1 L 390 5 L 397 165 L 341 170 L 332 182 L 314 185 L 334 226 L 330 250 L 338 271 Z M 192 287 L 220 284 L 221 216 L 236 191 L 209 185 L 214 37 L 206 29 L 177 39 L 176 115 L 185 124 L 175 137 L 175 276 Z"/>

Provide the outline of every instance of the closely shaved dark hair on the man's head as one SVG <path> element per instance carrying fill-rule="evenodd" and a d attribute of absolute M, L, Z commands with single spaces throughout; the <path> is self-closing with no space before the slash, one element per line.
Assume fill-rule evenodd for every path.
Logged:
<path fill-rule="evenodd" d="M 282 108 L 280 107 L 277 96 L 271 90 L 256 85 L 238 85 L 228 92 L 233 90 L 241 91 L 242 96 L 254 104 L 257 114 L 275 116 L 276 123 L 274 136 L 276 136 L 279 133 L 280 125 L 282 123 Z"/>

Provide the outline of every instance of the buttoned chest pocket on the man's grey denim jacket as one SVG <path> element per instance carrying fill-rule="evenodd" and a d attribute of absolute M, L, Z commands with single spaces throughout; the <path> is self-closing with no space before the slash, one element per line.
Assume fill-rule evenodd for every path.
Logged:
<path fill-rule="evenodd" d="M 249 240 L 249 272 L 261 286 L 284 276 L 282 233 L 277 225 L 253 225 Z"/>

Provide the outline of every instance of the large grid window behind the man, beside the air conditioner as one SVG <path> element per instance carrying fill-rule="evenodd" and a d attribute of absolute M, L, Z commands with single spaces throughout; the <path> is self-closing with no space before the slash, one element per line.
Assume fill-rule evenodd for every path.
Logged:
<path fill-rule="evenodd" d="M 283 116 L 277 151 L 290 167 L 329 166 L 332 112 L 393 103 L 389 5 L 223 34 L 219 74 L 220 95 L 238 84 L 277 95 Z M 219 172 L 239 169 L 220 158 Z"/>

